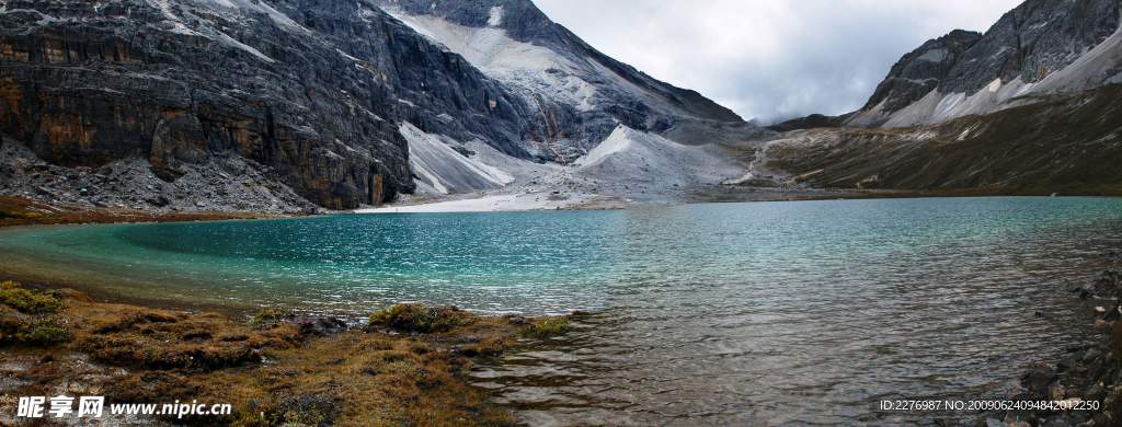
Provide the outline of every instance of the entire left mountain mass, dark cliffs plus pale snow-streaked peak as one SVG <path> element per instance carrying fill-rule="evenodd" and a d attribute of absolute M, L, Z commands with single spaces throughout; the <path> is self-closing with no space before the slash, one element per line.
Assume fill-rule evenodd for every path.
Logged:
<path fill-rule="evenodd" d="M 619 123 L 764 132 L 528 0 L 9 0 L 0 91 L 0 132 L 52 165 L 173 183 L 239 158 L 331 208 L 411 193 L 408 136 L 569 164 Z"/>

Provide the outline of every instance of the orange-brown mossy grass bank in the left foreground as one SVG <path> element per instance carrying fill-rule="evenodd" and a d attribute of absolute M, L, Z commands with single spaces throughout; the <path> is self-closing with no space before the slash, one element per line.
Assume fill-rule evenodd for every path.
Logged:
<path fill-rule="evenodd" d="M 0 424 L 18 397 L 229 403 L 224 416 L 102 418 L 104 425 L 508 426 L 469 384 L 473 359 L 546 338 L 567 317 L 482 317 L 401 305 L 362 325 L 265 310 L 249 319 L 94 303 L 0 285 Z M 52 418 L 30 425 L 56 425 Z M 57 424 L 65 425 L 65 424 Z M 72 424 L 73 425 L 73 424 Z"/>

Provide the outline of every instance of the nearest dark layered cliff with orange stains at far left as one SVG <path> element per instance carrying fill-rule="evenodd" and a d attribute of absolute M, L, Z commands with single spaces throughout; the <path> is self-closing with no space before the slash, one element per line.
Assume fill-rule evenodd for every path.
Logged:
<path fill-rule="evenodd" d="M 67 167 L 236 154 L 333 208 L 412 188 L 377 74 L 267 4 L 232 4 L 7 2 L 0 130 Z"/>

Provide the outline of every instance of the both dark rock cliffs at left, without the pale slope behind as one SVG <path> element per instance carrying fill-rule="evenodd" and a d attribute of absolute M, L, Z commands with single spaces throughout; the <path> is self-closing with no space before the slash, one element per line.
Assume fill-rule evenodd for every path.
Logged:
<path fill-rule="evenodd" d="M 12 1 L 0 46 L 0 131 L 57 166 L 232 154 L 347 208 L 412 191 L 401 121 L 531 157 L 524 105 L 355 3 Z"/>

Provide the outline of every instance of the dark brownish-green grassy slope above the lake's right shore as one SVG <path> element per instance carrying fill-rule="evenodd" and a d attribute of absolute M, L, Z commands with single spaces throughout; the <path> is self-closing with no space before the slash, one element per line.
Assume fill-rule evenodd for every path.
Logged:
<path fill-rule="evenodd" d="M 1122 84 L 938 124 L 804 131 L 762 155 L 817 187 L 1122 196 Z"/>

